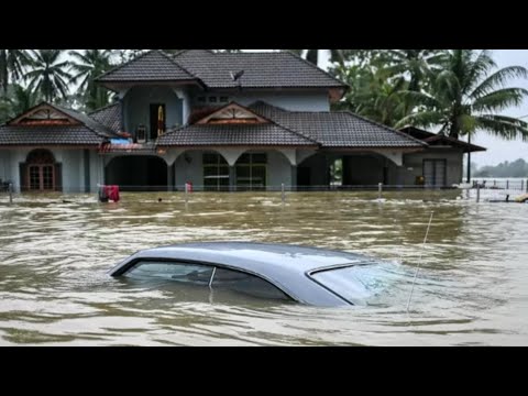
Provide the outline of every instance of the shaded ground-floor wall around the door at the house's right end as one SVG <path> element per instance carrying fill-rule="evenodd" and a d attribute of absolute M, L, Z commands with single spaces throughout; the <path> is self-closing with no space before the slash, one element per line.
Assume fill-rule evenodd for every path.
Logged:
<path fill-rule="evenodd" d="M 404 185 L 414 185 L 417 176 L 424 175 L 424 160 L 447 160 L 448 186 L 462 182 L 463 152 L 458 148 L 435 148 L 425 152 L 407 154 L 404 156 L 404 166 L 400 182 Z"/>

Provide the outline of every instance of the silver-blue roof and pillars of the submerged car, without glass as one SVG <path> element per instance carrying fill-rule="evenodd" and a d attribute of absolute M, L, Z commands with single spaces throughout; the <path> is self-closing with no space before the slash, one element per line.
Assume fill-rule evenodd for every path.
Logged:
<path fill-rule="evenodd" d="M 120 275 L 141 258 L 163 258 L 218 264 L 254 273 L 268 279 L 299 301 L 314 305 L 342 305 L 343 300 L 306 274 L 333 266 L 375 262 L 356 253 L 289 244 L 254 242 L 200 242 L 143 250 L 110 271 Z M 340 302 L 341 304 L 340 304 Z"/>

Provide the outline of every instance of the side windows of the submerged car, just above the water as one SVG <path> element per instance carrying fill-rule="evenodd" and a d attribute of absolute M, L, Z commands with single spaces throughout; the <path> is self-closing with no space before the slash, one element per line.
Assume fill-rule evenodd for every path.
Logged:
<path fill-rule="evenodd" d="M 284 292 L 258 276 L 204 264 L 140 261 L 124 276 L 162 278 L 213 289 L 230 289 L 253 297 L 290 300 Z"/>

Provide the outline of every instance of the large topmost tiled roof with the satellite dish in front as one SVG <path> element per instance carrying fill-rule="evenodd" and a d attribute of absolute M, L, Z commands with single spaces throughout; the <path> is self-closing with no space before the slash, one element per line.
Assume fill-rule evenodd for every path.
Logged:
<path fill-rule="evenodd" d="M 345 85 L 289 52 L 212 53 L 187 50 L 173 59 L 200 78 L 209 88 L 309 88 Z M 231 73 L 244 72 L 239 81 Z"/>

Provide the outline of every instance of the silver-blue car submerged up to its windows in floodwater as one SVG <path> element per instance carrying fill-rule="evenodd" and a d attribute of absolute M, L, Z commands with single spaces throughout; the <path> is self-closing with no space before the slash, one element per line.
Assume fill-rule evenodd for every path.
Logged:
<path fill-rule="evenodd" d="M 114 277 L 167 279 L 314 306 L 365 305 L 383 263 L 365 255 L 285 244 L 187 243 L 140 251 Z"/>

